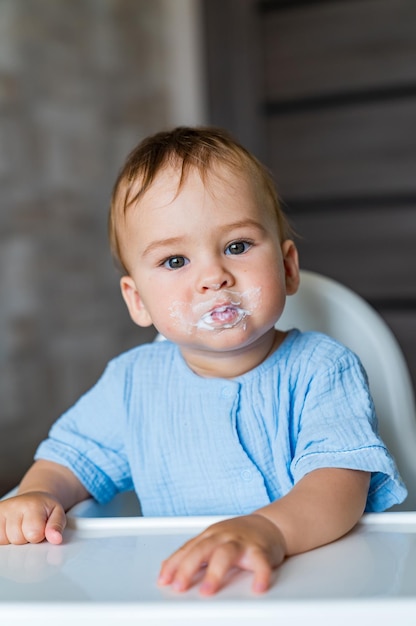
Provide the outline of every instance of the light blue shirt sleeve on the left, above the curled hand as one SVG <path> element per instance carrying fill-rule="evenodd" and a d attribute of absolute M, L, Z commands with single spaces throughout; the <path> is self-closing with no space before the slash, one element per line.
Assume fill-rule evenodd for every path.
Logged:
<path fill-rule="evenodd" d="M 52 426 L 35 459 L 69 468 L 99 502 L 133 489 L 125 452 L 128 377 L 112 361 L 99 381 Z"/>

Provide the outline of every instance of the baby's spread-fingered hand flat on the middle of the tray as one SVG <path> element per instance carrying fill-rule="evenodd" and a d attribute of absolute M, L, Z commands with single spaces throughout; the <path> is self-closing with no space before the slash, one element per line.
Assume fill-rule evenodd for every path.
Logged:
<path fill-rule="evenodd" d="M 272 570 L 284 560 L 285 549 L 280 530 L 262 515 L 232 518 L 209 526 L 164 561 L 158 583 L 185 591 L 206 567 L 200 592 L 212 595 L 237 567 L 253 572 L 252 589 L 262 593 L 270 586 Z"/>

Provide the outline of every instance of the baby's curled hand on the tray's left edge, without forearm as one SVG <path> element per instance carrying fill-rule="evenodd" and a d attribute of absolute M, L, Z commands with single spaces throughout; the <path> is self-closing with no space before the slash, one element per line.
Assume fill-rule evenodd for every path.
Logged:
<path fill-rule="evenodd" d="M 33 491 L 0 502 L 0 545 L 62 542 L 65 511 L 54 496 Z"/>

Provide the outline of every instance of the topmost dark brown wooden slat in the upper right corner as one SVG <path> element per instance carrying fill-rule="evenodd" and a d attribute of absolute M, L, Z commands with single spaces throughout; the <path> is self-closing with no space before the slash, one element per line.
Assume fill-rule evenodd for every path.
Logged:
<path fill-rule="evenodd" d="M 414 0 L 312 4 L 262 22 L 266 99 L 416 82 Z"/>

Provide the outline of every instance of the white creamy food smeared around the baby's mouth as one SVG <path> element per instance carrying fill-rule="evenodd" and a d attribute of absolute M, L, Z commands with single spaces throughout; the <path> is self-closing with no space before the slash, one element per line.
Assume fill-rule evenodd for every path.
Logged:
<path fill-rule="evenodd" d="M 173 302 L 169 314 L 189 334 L 194 328 L 222 331 L 242 324 L 245 329 L 246 318 L 252 315 L 260 302 L 261 287 L 243 292 L 225 289 L 198 304 Z"/>

